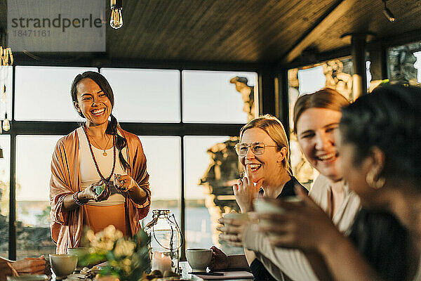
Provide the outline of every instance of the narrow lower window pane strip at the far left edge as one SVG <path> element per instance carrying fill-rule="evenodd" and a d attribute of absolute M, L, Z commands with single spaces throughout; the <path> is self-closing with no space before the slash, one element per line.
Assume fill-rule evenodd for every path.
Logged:
<path fill-rule="evenodd" d="M 0 136 L 0 148 L 3 158 L 0 159 L 0 256 L 8 257 L 8 221 L 9 221 L 9 188 L 11 137 Z"/>

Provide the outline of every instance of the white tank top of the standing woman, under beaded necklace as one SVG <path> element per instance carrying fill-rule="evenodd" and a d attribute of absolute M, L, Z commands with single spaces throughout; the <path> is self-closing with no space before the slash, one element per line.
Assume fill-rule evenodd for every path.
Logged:
<path fill-rule="evenodd" d="M 79 136 L 79 170 L 81 176 L 81 190 L 84 190 L 92 183 L 98 183 L 101 180 L 100 175 L 98 174 L 97 169 L 95 168 L 95 164 L 92 159 L 91 151 L 89 150 L 88 139 L 86 138 L 86 134 L 83 131 L 83 127 L 79 127 L 76 129 L 77 134 Z M 112 171 L 112 164 L 114 162 L 114 147 L 110 148 L 109 150 L 105 150 L 107 152 L 107 156 L 102 155 L 104 150 L 100 150 L 95 148 L 91 143 L 91 148 L 93 151 L 93 155 L 95 156 L 95 160 L 98 163 L 98 168 L 104 178 L 108 178 L 109 174 Z M 123 148 L 121 150 L 124 159 L 127 160 L 127 150 Z M 119 160 L 119 150 L 116 150 L 116 167 L 114 169 L 114 174 L 124 175 L 127 174 L 123 166 L 120 164 Z M 110 178 L 110 181 L 114 181 L 114 174 Z M 91 206 L 113 206 L 116 204 L 121 204 L 126 201 L 125 197 L 121 195 L 121 193 L 117 192 L 116 190 L 111 190 L 112 194 L 108 197 L 107 200 L 101 202 L 94 202 L 92 200 L 88 201 L 88 205 Z"/>

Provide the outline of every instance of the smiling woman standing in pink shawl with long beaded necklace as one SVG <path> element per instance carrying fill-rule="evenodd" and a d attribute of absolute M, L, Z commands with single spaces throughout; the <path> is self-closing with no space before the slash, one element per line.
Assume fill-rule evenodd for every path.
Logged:
<path fill-rule="evenodd" d="M 51 161 L 51 236 L 57 253 L 80 247 L 83 228 L 140 229 L 150 206 L 149 174 L 138 136 L 112 115 L 114 93 L 98 72 L 78 74 L 73 105 L 86 122 L 60 138 Z"/>

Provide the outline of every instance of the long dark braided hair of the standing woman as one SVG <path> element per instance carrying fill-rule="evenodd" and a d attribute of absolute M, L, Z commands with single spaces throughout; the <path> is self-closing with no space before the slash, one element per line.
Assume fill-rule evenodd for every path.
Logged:
<path fill-rule="evenodd" d="M 102 74 L 98 72 L 93 72 L 93 71 L 83 72 L 82 74 L 78 74 L 76 77 L 74 77 L 74 80 L 72 82 L 72 91 L 71 91 L 72 100 L 77 103 L 77 85 L 79 84 L 81 80 L 85 78 L 92 79 L 96 84 L 98 84 L 100 89 L 107 95 L 107 98 L 111 102 L 112 108 L 114 108 L 114 93 L 111 89 L 111 86 L 109 86 L 107 79 L 105 79 L 105 77 L 102 76 Z M 85 118 L 82 112 L 78 112 L 78 113 L 81 117 Z M 123 150 L 123 148 L 126 147 L 127 140 L 126 138 L 124 138 L 123 136 L 120 136 L 117 133 L 117 127 L 119 126 L 119 123 L 117 122 L 116 117 L 114 117 L 114 115 L 112 114 L 109 115 L 109 117 L 111 117 L 111 121 L 108 122 L 107 130 L 105 131 L 105 133 L 108 133 L 109 135 L 112 135 L 112 136 L 116 136 L 116 148 L 117 150 L 119 150 L 119 160 L 120 160 L 121 166 L 123 166 L 124 170 L 131 171 L 131 166 L 128 164 L 126 159 L 124 159 L 123 153 L 121 152 L 121 150 Z"/>

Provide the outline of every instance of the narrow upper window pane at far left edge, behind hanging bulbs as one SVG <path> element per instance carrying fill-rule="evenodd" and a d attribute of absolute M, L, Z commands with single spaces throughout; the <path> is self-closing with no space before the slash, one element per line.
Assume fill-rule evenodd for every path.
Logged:
<path fill-rule="evenodd" d="M 8 119 L 12 117 L 12 84 L 13 67 L 0 66 L 0 119 L 4 119 L 6 112 Z M 4 92 L 5 86 L 6 92 Z"/>

